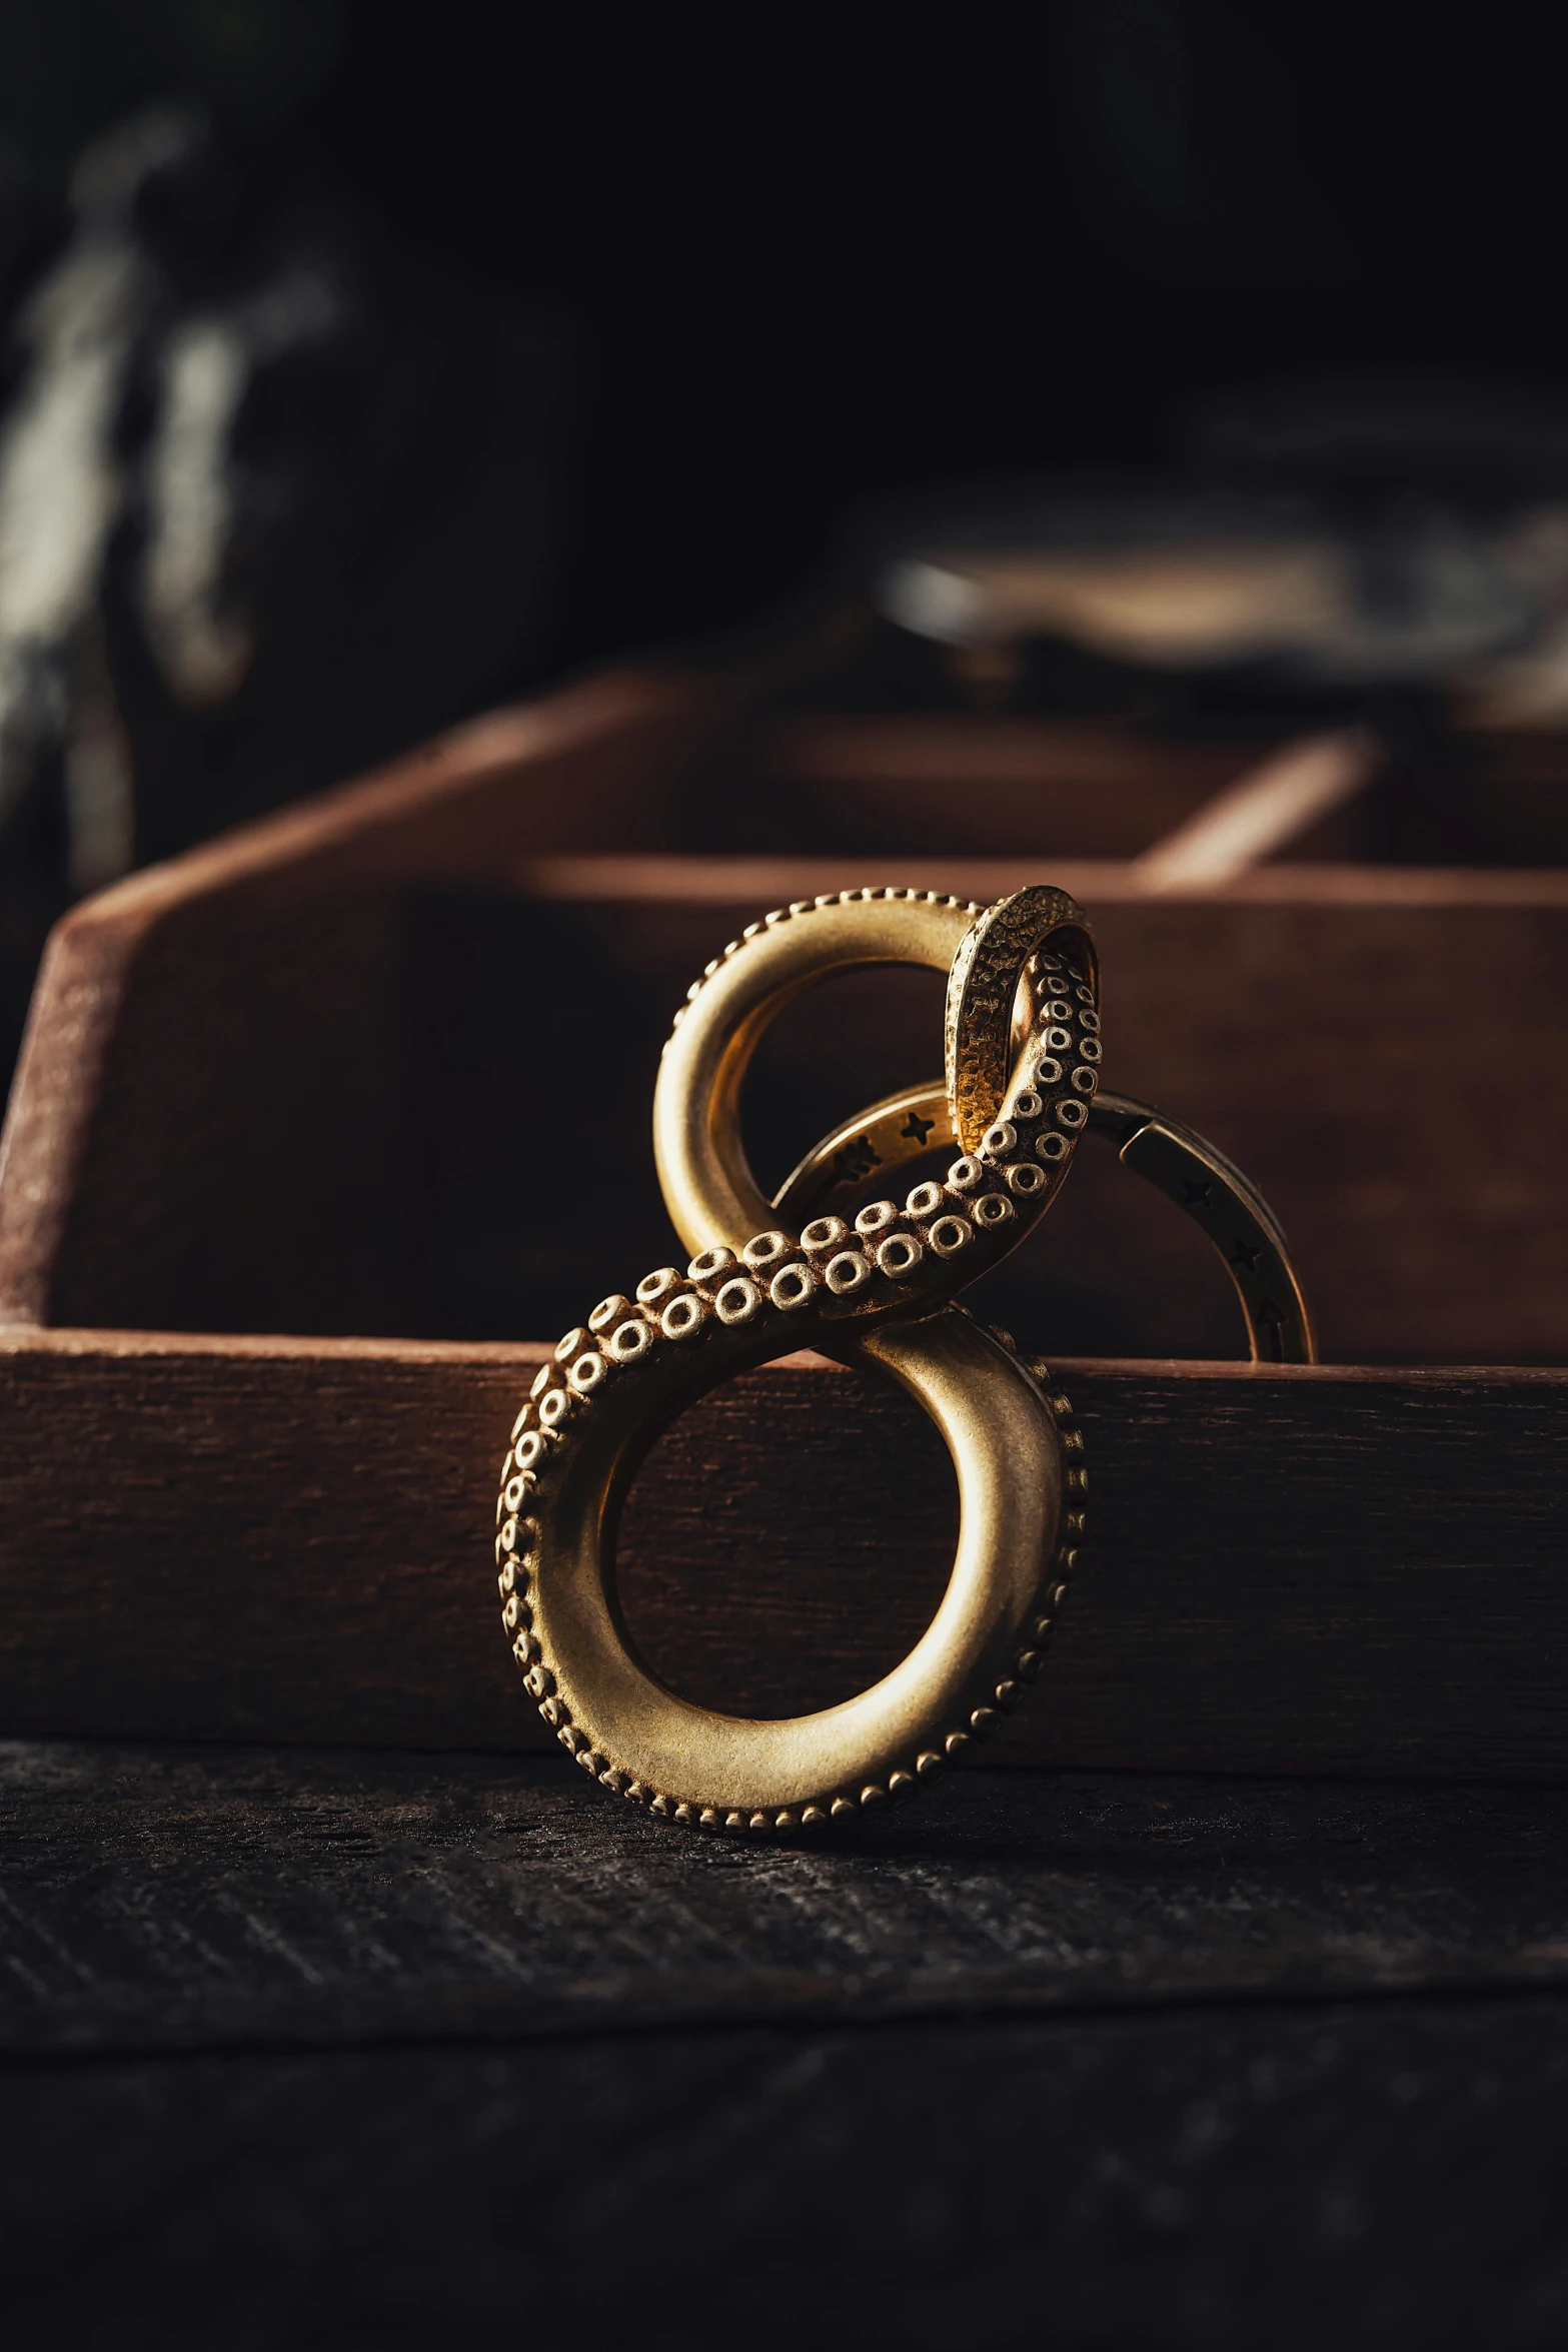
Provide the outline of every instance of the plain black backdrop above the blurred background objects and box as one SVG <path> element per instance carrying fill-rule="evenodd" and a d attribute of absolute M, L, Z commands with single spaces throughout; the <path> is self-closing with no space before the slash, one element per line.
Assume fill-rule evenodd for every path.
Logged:
<path fill-rule="evenodd" d="M 564 308 L 559 666 L 769 609 L 863 492 L 1157 456 L 1194 390 L 1554 374 L 1554 47 L 1547 12 L 1342 0 L 12 0 L 12 268 L 87 139 L 188 96 L 256 172 L 320 176 L 440 270 Z"/>

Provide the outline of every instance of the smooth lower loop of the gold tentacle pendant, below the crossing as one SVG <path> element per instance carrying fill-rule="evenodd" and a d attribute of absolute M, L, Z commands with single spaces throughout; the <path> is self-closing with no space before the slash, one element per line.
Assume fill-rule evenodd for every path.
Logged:
<path fill-rule="evenodd" d="M 990 1331 L 952 1310 L 938 1322 L 940 1341 L 929 1327 L 870 1331 L 860 1352 L 947 1439 L 961 1512 L 952 1576 L 910 1656 L 816 1715 L 755 1722 L 665 1691 L 635 1658 L 607 1578 L 614 1519 L 642 1454 L 733 1362 L 719 1371 L 693 1352 L 637 1364 L 581 1416 L 576 1444 L 529 1498 L 522 1534 L 501 1543 L 501 1578 L 508 1606 L 520 1602 L 512 1623 L 529 1686 L 604 1788 L 701 1828 L 813 1830 L 912 1790 L 1023 1696 L 1051 1630 L 1041 1566 L 1060 1522 L 1058 1432 L 1048 1399 Z M 508 1517 L 503 1538 L 510 1529 Z"/>

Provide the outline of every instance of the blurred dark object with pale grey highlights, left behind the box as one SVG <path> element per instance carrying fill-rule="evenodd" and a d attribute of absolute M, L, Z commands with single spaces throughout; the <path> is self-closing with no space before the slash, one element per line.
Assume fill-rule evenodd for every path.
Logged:
<path fill-rule="evenodd" d="M 0 1051 L 73 896 L 567 652 L 574 329 L 292 143 L 341 40 L 329 5 L 5 16 Z"/>

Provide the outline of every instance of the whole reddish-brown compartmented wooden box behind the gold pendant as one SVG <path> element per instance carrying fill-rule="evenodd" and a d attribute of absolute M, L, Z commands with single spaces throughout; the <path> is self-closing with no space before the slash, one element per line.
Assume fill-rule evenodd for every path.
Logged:
<path fill-rule="evenodd" d="M 1568 1769 L 1568 870 L 1528 861 L 1561 856 L 1568 757 L 1448 771 L 1403 840 L 1347 811 L 1150 891 L 1135 851 L 1227 769 L 618 673 L 80 906 L 0 1160 L 0 1731 L 543 1745 L 494 1470 L 541 1345 L 675 1254 L 649 1103 L 689 978 L 823 889 L 1056 880 L 1110 1082 L 1262 1185 L 1324 1364 L 1237 1362 L 1204 1242 L 1081 1155 L 973 1294 L 1091 1465 L 1053 1670 L 994 1755 Z M 1465 863 L 1505 818 L 1519 863 Z M 802 1000 L 757 1063 L 759 1171 L 936 1077 L 938 1007 L 931 974 Z M 950 1541 L 919 1416 L 788 1359 L 661 1442 L 623 1606 L 691 1696 L 790 1712 L 898 1656 Z"/>

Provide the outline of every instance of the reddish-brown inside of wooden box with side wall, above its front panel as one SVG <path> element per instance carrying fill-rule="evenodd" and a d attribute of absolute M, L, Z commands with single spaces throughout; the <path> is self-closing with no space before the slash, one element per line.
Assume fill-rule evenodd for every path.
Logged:
<path fill-rule="evenodd" d="M 1133 741 L 1121 795 L 1114 743 L 1044 727 L 1037 800 L 1070 811 L 1072 854 L 980 856 L 1004 830 L 997 769 L 1006 821 L 1030 828 L 997 727 L 973 722 L 966 776 L 952 717 L 926 724 L 926 757 L 959 847 L 900 847 L 891 783 L 867 802 L 853 779 L 837 830 L 856 847 L 823 847 L 832 771 L 853 750 L 877 790 L 898 764 L 919 779 L 922 722 L 715 727 L 696 687 L 649 710 L 658 687 L 555 706 L 555 731 L 581 736 L 555 755 L 508 760 L 491 722 L 489 743 L 437 748 L 423 793 L 414 769 L 409 807 L 407 776 L 371 783 L 357 823 L 353 795 L 329 797 L 78 910 L 16 1087 L 0 1312 L 543 1338 L 675 1251 L 649 1103 L 670 1016 L 726 938 L 827 889 L 994 898 L 1051 875 L 1103 943 L 1107 1082 L 1262 1185 L 1326 1362 L 1568 1362 L 1568 868 L 1291 858 L 1150 896 L 1103 851 L 1143 847 L 1237 750 L 1178 748 L 1159 771 Z M 1013 769 L 1025 739 L 1004 731 Z M 1051 760 L 1070 783 L 1086 771 L 1067 790 Z M 788 847 L 698 854 L 726 802 L 731 835 L 766 821 Z M 1034 823 L 1048 835 L 1039 807 Z M 858 1103 L 938 1077 L 938 1014 L 940 978 L 914 971 L 846 976 L 785 1014 L 748 1091 L 759 1174 L 780 1181 Z M 1201 1240 L 1095 1150 L 976 1303 L 1067 1355 L 1241 1345 Z"/>

